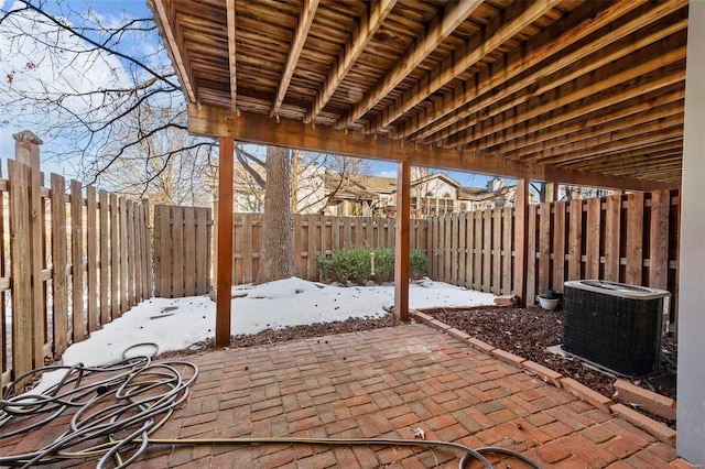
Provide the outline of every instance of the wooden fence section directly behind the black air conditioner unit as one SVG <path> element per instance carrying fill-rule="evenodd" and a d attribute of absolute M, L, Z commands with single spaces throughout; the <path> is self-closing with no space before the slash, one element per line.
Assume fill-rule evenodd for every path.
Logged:
<path fill-rule="evenodd" d="M 528 301 L 567 280 L 603 279 L 668 290 L 676 319 L 677 190 L 532 205 L 528 226 Z"/>

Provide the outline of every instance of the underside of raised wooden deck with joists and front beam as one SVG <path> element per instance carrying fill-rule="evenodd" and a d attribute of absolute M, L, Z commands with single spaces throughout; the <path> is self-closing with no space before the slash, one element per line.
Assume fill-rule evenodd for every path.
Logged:
<path fill-rule="evenodd" d="M 685 0 L 148 2 L 193 133 L 567 184 L 680 185 Z"/>

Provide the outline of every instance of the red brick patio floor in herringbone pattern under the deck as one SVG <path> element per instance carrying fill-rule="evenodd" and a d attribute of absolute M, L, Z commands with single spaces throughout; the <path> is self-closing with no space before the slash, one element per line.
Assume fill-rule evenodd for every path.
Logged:
<path fill-rule="evenodd" d="M 426 439 L 500 446 L 542 467 L 692 467 L 672 445 L 421 324 L 183 359 L 198 366 L 198 379 L 152 438 L 413 439 L 421 428 Z M 458 461 L 447 449 L 197 445 L 150 447 L 133 467 L 456 468 Z"/>

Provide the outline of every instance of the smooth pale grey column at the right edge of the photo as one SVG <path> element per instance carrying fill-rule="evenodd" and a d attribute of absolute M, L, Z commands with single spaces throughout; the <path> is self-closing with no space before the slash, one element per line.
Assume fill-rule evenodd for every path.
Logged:
<path fill-rule="evenodd" d="M 679 254 L 676 452 L 705 466 L 705 2 L 688 6 Z"/>

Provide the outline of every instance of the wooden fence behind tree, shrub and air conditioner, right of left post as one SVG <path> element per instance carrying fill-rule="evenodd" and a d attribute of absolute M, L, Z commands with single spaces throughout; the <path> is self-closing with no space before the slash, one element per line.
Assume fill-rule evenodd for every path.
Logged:
<path fill-rule="evenodd" d="M 523 292 L 512 292 L 514 209 L 447 214 L 411 220 L 411 247 L 429 258 L 433 280 L 534 304 L 546 288 L 604 279 L 677 294 L 680 198 L 676 190 L 531 205 Z M 257 277 L 260 216 L 234 215 L 232 283 Z M 394 246 L 394 219 L 294 215 L 296 275 L 318 280 L 316 257 L 343 248 Z M 672 316 L 676 312 L 675 301 Z M 674 319 L 674 317 L 672 317 Z"/>

